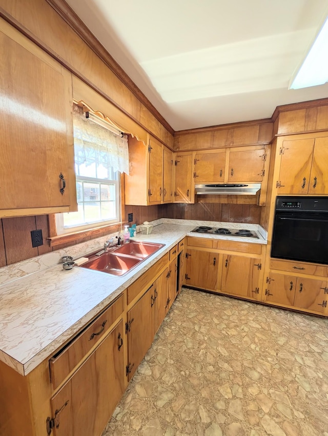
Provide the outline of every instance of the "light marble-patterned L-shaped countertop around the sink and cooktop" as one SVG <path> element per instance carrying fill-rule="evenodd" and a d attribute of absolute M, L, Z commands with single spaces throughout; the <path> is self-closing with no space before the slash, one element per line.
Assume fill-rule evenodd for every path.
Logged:
<path fill-rule="evenodd" d="M 76 258 L 101 249 L 104 237 L 0 268 L 0 360 L 28 374 L 186 235 L 267 244 L 258 225 L 169 219 L 153 224 L 150 235 L 134 239 L 165 246 L 120 277 L 79 267 L 65 271 L 58 264 L 62 255 Z M 257 230 L 260 238 L 190 233 L 198 225 Z"/>

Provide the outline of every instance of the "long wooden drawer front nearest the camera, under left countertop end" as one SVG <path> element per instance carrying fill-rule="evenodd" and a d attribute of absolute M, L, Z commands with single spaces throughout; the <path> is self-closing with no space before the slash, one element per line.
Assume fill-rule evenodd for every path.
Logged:
<path fill-rule="evenodd" d="M 88 351 L 105 335 L 113 322 L 124 310 L 124 296 L 121 295 L 105 312 L 101 313 L 77 338 L 68 343 L 50 359 L 50 379 L 56 389 L 67 375 L 84 358 Z"/>

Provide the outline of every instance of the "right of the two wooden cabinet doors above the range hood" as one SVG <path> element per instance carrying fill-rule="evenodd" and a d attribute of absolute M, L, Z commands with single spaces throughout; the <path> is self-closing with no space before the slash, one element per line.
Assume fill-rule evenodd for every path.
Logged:
<path fill-rule="evenodd" d="M 264 149 L 231 151 L 228 182 L 262 182 L 264 156 Z"/>

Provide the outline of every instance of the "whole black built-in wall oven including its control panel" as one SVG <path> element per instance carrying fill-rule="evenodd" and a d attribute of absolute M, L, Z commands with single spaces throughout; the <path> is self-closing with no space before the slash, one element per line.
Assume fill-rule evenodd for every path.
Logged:
<path fill-rule="evenodd" d="M 277 197 L 271 257 L 328 265 L 328 197 Z"/>

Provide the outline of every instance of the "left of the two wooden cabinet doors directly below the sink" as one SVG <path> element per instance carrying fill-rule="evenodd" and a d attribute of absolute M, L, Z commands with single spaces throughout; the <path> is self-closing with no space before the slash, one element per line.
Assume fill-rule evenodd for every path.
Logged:
<path fill-rule="evenodd" d="M 154 339 L 155 287 L 152 285 L 128 311 L 129 380 L 144 359 Z"/>

